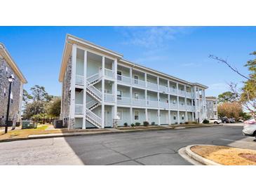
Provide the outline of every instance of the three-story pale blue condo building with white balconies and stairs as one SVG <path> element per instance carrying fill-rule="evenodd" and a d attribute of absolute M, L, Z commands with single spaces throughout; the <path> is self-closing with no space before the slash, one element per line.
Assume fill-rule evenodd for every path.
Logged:
<path fill-rule="evenodd" d="M 208 88 L 123 60 L 123 55 L 67 35 L 59 81 L 69 128 L 124 123 L 177 124 L 206 118 Z"/>

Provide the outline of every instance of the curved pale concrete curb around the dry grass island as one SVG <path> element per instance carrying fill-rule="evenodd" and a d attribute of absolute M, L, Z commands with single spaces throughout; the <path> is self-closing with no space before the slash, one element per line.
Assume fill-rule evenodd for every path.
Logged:
<path fill-rule="evenodd" d="M 202 163 L 203 165 L 221 165 L 220 163 L 215 163 L 213 160 L 203 158 L 202 156 L 199 156 L 198 154 L 191 151 L 192 146 L 204 146 L 204 145 L 206 144 L 192 144 L 192 145 L 186 146 L 185 151 L 190 158 L 197 160 L 199 163 Z M 207 144 L 207 146 L 209 146 L 209 144 Z"/>

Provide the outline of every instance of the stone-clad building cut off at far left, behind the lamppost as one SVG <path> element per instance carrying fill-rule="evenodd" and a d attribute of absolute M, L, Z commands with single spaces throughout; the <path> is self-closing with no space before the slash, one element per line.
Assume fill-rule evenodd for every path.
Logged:
<path fill-rule="evenodd" d="M 27 80 L 22 75 L 4 44 L 0 43 L 0 126 L 6 123 L 6 110 L 8 104 L 9 82 L 8 77 L 13 75 L 14 81 L 11 86 L 11 102 L 9 121 L 13 118 L 17 122 L 21 120 L 23 84 Z"/>

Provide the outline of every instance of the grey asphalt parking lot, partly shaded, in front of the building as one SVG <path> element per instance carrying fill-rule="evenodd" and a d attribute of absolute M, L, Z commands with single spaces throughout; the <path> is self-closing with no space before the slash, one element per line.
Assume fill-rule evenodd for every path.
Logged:
<path fill-rule="evenodd" d="M 177 151 L 190 144 L 255 149 L 241 125 L 154 130 L 0 143 L 0 165 L 191 165 Z"/>

